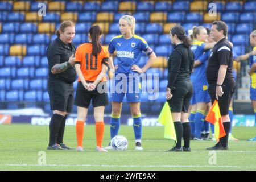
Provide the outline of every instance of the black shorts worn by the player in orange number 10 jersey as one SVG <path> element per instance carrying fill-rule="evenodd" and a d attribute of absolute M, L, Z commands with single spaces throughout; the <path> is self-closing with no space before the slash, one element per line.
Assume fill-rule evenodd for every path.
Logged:
<path fill-rule="evenodd" d="M 106 86 L 106 82 L 101 82 L 100 84 L 103 84 L 102 87 L 97 85 L 95 90 L 88 91 L 84 88 L 81 81 L 79 81 L 76 89 L 75 105 L 88 108 L 90 105 L 90 100 L 92 100 L 93 107 L 108 105 L 109 99 L 106 90 L 108 87 Z"/>

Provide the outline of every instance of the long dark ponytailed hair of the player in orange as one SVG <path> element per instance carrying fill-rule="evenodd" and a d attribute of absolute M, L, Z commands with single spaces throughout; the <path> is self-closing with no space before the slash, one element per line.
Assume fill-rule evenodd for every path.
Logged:
<path fill-rule="evenodd" d="M 98 53 L 101 52 L 101 27 L 98 25 L 92 26 L 89 30 L 89 34 L 93 44 L 93 56 L 97 57 Z"/>

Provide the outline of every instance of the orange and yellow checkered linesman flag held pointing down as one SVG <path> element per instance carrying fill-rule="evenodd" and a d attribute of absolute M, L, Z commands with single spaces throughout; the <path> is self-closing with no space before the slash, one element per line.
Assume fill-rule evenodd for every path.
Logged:
<path fill-rule="evenodd" d="M 212 107 L 210 108 L 205 121 L 212 123 L 214 125 L 214 137 L 216 138 L 217 142 L 221 137 L 226 135 L 220 114 L 220 107 L 218 106 L 218 101 L 215 100 L 213 102 Z"/>

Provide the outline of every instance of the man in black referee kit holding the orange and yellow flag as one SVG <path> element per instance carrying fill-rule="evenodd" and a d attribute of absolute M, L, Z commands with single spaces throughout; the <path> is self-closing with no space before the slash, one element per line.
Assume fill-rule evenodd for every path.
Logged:
<path fill-rule="evenodd" d="M 207 65 L 208 92 L 212 99 L 218 100 L 220 105 L 221 119 L 226 135 L 219 142 L 207 150 L 228 150 L 228 137 L 230 129 L 229 105 L 236 88 L 234 80 L 232 47 L 226 39 L 228 27 L 225 22 L 216 21 L 212 23 L 210 36 L 217 43 L 212 49 L 212 54 Z"/>

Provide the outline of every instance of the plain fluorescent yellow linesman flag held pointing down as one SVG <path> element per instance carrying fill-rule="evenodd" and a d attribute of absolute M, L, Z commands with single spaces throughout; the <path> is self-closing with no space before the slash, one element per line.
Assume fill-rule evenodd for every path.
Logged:
<path fill-rule="evenodd" d="M 172 120 L 172 114 L 168 102 L 164 104 L 159 115 L 158 122 L 164 126 L 164 138 L 172 139 L 177 142 L 174 121 Z"/>

